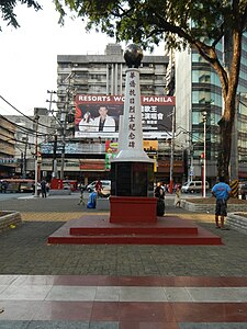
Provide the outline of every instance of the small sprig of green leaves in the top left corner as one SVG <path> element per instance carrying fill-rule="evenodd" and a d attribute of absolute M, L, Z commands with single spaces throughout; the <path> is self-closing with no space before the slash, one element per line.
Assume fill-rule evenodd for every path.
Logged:
<path fill-rule="evenodd" d="M 27 7 L 33 7 L 35 10 L 42 9 L 42 7 L 37 3 L 37 1 L 33 0 L 1 0 L 0 1 L 0 12 L 3 21 L 7 22 L 8 25 L 13 27 L 20 27 L 16 15 L 14 13 L 14 8 L 19 4 L 26 4 Z M 1 31 L 1 26 L 0 26 Z"/>

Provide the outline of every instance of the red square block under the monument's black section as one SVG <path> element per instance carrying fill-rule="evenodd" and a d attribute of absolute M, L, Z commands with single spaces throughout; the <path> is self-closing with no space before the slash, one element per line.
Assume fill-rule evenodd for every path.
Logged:
<path fill-rule="evenodd" d="M 157 223 L 156 197 L 110 196 L 110 223 Z"/>

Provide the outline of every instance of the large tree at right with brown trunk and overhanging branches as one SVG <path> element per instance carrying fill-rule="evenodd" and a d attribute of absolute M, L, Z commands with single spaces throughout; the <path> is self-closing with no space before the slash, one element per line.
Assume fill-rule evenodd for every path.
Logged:
<path fill-rule="evenodd" d="M 169 48 L 190 45 L 217 72 L 224 113 L 220 125 L 218 175 L 229 179 L 232 131 L 239 78 L 246 0 L 56 0 L 61 20 L 65 7 L 87 22 L 90 31 L 106 33 L 116 42 L 127 41 L 151 49 L 161 41 Z M 63 7 L 63 3 L 65 7 Z M 222 63 L 216 46 L 227 36 L 231 57 Z"/>

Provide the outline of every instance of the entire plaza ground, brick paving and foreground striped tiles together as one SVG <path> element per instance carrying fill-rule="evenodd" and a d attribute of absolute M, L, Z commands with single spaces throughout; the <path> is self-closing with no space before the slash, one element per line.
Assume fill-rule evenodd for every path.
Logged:
<path fill-rule="evenodd" d="M 0 328 L 247 328 L 247 237 L 235 230 L 216 230 L 213 208 L 210 214 L 190 213 L 182 208 L 175 208 L 172 196 L 168 196 L 166 200 L 166 216 L 178 215 L 182 218 L 194 220 L 198 225 L 221 236 L 224 242 L 223 246 L 48 246 L 47 237 L 66 220 L 79 218 L 88 212 L 93 214 L 98 213 L 97 209 L 87 209 L 86 206 L 78 205 L 78 194 L 70 196 L 48 196 L 47 198 L 35 198 L 31 195 L 26 195 L 19 200 L 4 200 L 0 201 L 0 211 L 19 211 L 23 219 L 23 224 L 20 226 L 0 232 Z M 44 277 L 46 277 L 45 284 L 43 282 Z M 66 281 L 66 277 L 67 282 L 65 283 L 63 280 Z M 148 283 L 145 282 L 145 277 Z M 55 279 L 60 280 L 60 285 L 56 283 Z M 161 282 L 159 280 L 161 280 Z M 165 280 L 165 282 L 162 280 Z M 111 307 L 113 307 L 113 309 L 116 307 L 117 311 L 121 309 L 122 318 L 121 315 L 114 317 L 114 315 L 117 314 L 116 309 L 114 311 L 112 310 L 113 314 L 111 313 L 105 316 L 110 307 L 108 298 L 112 291 L 105 292 L 108 295 L 106 299 L 102 298 L 96 300 L 93 299 L 94 297 L 87 297 L 87 303 L 96 303 L 92 304 L 94 306 L 90 304 L 90 307 L 88 304 L 82 304 L 83 306 L 77 304 L 86 303 L 83 299 L 81 300 L 79 298 L 78 300 L 71 297 L 71 295 L 76 294 L 76 291 L 74 291 L 71 286 L 77 286 L 77 290 L 79 290 L 79 286 L 83 286 L 85 288 L 90 285 L 98 288 L 100 286 L 100 288 L 105 290 L 105 285 L 108 287 L 111 286 L 113 281 L 114 286 L 112 290 L 115 286 L 121 286 L 121 288 L 124 290 L 126 285 L 127 288 L 130 288 L 128 284 L 132 281 L 131 286 L 135 287 L 142 285 L 144 281 L 144 286 L 154 290 L 156 285 L 158 285 L 159 288 L 160 286 L 164 288 L 164 285 L 167 286 L 166 280 L 168 280 L 168 282 L 169 280 L 172 281 L 172 284 L 170 282 L 168 284 L 171 285 L 172 288 L 177 288 L 178 286 L 186 288 L 184 286 L 187 286 L 187 293 L 190 297 L 188 297 L 189 299 L 187 297 L 181 298 L 181 295 L 178 297 L 178 294 L 184 294 L 184 291 L 173 292 L 175 295 L 177 294 L 177 297 L 170 299 L 173 303 L 171 311 L 165 310 L 164 307 L 168 307 L 169 303 L 164 304 L 164 302 L 169 302 L 169 294 L 172 295 L 172 293 L 166 292 L 166 298 L 156 296 L 157 299 L 155 300 L 161 303 L 155 304 L 156 309 L 161 307 L 162 311 L 160 310 L 160 314 L 166 314 L 165 318 L 161 316 L 160 318 L 158 316 L 156 317 L 154 314 L 151 319 L 139 319 L 139 317 L 144 317 L 145 311 L 148 313 L 145 307 L 153 307 L 154 303 L 150 304 L 151 306 L 147 306 L 148 303 L 143 304 L 144 313 L 142 313 L 142 315 L 138 314 L 139 317 L 136 314 L 132 315 L 132 313 L 126 311 L 126 318 L 128 317 L 128 320 L 123 316 L 124 310 L 122 310 L 121 307 L 126 306 L 124 303 L 136 302 L 139 307 L 141 302 L 150 302 L 149 299 L 146 300 L 142 295 L 144 292 L 138 292 L 142 296 L 139 299 L 135 296 L 133 300 L 125 300 L 122 296 L 123 304 L 119 303 L 117 305 L 115 305 L 115 295 L 112 296 L 113 299 L 110 302 L 113 304 L 111 304 Z M 156 281 L 158 281 L 158 283 L 155 283 Z M 14 282 L 19 282 L 18 286 L 21 286 L 20 282 L 22 285 L 23 282 L 29 282 L 27 285 L 24 284 L 25 290 L 27 286 L 29 288 L 32 287 L 31 292 L 33 292 L 34 287 L 42 288 L 43 293 L 44 286 L 47 288 L 48 285 L 50 290 L 50 287 L 56 288 L 58 284 L 59 287 L 63 287 L 63 293 L 57 293 L 58 295 L 60 294 L 60 299 L 56 299 L 57 295 L 55 294 L 56 297 L 53 295 L 53 297 L 50 297 L 52 299 L 47 300 L 47 291 L 42 297 L 32 297 L 33 295 L 26 296 L 23 290 L 21 290 L 21 293 L 20 291 L 18 293 L 15 291 L 14 293 L 14 291 L 11 290 L 13 288 Z M 191 285 L 192 287 L 199 286 L 201 297 L 198 300 L 193 296 L 193 293 L 190 290 L 188 291 L 188 286 Z M 201 291 L 203 286 L 211 290 L 211 295 L 205 291 Z M 231 304 L 233 302 L 231 298 L 233 291 L 227 291 L 227 294 L 224 291 L 222 294 L 222 287 L 229 290 L 231 286 L 234 286 L 234 300 L 237 306 Z M 216 291 L 212 292 L 212 287 L 216 287 Z M 68 290 L 67 295 L 63 295 L 61 297 L 66 288 Z M 143 285 L 142 288 L 144 288 Z M 8 290 L 10 291 L 9 294 L 7 294 Z M 158 294 L 160 292 L 156 291 L 155 293 Z M 117 296 L 121 296 L 120 293 L 117 294 Z M 150 292 L 148 295 L 149 294 Z M 218 297 L 212 297 L 214 294 Z M 42 307 L 41 305 L 38 306 L 40 311 L 37 311 L 37 308 L 31 311 L 32 307 L 30 308 L 30 306 L 34 303 L 32 298 L 34 298 L 35 303 L 43 302 Z M 53 298 L 55 298 L 55 300 Z M 88 298 L 91 299 L 88 300 Z M 22 299 L 27 304 L 26 308 L 20 311 L 19 302 Z M 58 310 L 56 310 L 57 313 L 50 313 L 50 309 L 54 310 L 55 302 L 68 303 L 68 300 L 76 302 L 77 307 L 79 307 L 74 316 L 71 315 L 70 304 L 56 305 L 56 307 L 60 307 L 59 309 L 64 306 L 68 307 L 70 313 L 65 313 L 65 310 L 64 313 Z M 99 300 L 103 303 L 103 306 L 99 304 Z M 176 307 L 179 309 L 182 305 L 175 303 L 178 300 L 186 303 L 183 304 L 182 313 L 181 310 L 176 310 Z M 212 305 L 215 300 L 217 304 Z M 197 302 L 197 306 L 202 307 L 200 311 L 197 310 L 197 316 L 191 311 L 190 307 L 192 304 L 193 308 L 197 308 L 194 303 L 191 302 Z M 203 302 L 204 307 L 199 302 Z M 50 305 L 47 304 L 50 306 L 50 308 L 48 308 L 49 311 L 47 309 L 48 306 L 46 304 L 44 306 L 44 303 L 52 303 Z M 232 310 L 229 304 L 238 308 Z M 226 316 L 226 305 L 231 308 L 232 318 L 227 318 Z M 209 308 L 209 306 L 211 306 L 211 308 Z M 7 311 L 8 307 L 11 309 L 10 314 Z M 19 313 L 16 311 L 16 307 L 19 307 Z M 91 317 L 82 316 L 81 307 L 83 311 L 89 307 Z M 98 313 L 98 316 L 94 315 L 93 318 L 93 307 L 102 307 L 101 316 L 99 316 Z M 215 308 L 218 310 L 218 314 L 213 316 L 214 313 L 212 309 Z M 44 309 L 48 311 L 49 316 L 47 316 L 47 314 L 44 315 Z M 178 314 L 183 314 L 184 309 L 188 310 L 188 315 L 179 318 Z M 64 314 L 64 316 L 61 314 Z M 199 317 L 199 314 L 201 317 Z M 130 315 L 132 315 L 131 319 Z"/>

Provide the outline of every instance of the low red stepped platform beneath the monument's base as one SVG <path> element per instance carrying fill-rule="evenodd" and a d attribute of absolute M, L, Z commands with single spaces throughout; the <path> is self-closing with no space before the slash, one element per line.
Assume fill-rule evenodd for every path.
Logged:
<path fill-rule="evenodd" d="M 116 224 L 109 215 L 86 215 L 67 222 L 48 243 L 75 245 L 223 245 L 221 237 L 177 216 L 157 223 Z"/>

